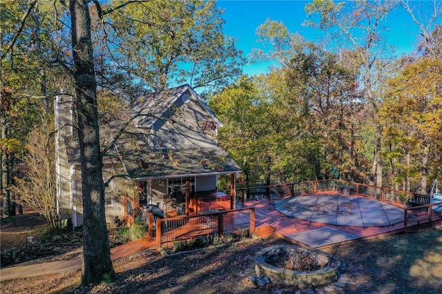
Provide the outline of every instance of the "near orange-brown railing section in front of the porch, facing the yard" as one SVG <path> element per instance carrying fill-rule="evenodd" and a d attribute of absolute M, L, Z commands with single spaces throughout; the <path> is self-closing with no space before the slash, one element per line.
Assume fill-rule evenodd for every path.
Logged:
<path fill-rule="evenodd" d="M 153 226 L 149 220 L 149 228 Z M 238 231 L 255 231 L 255 208 L 208 211 L 197 215 L 183 215 L 156 219 L 157 246 L 169 246 L 173 242 L 224 235 Z"/>

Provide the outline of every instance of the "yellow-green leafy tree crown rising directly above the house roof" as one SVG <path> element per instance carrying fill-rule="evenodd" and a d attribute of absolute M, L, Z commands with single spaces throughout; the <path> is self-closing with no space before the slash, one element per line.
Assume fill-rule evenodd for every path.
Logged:
<path fill-rule="evenodd" d="M 144 1 L 117 14 L 104 13 L 98 13 L 93 40 L 106 55 L 97 64 L 99 83 L 105 86 L 137 86 L 138 94 L 184 83 L 218 88 L 241 73 L 244 59 L 235 41 L 222 33 L 225 21 L 214 1 Z"/>

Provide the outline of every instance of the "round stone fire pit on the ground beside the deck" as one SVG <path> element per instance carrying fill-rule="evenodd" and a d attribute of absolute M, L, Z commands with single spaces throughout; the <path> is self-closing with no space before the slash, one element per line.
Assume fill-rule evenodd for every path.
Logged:
<path fill-rule="evenodd" d="M 276 265 L 278 266 L 276 266 Z M 268 277 L 273 284 L 314 288 L 338 280 L 340 262 L 316 249 L 278 245 L 256 253 L 256 275 Z"/>

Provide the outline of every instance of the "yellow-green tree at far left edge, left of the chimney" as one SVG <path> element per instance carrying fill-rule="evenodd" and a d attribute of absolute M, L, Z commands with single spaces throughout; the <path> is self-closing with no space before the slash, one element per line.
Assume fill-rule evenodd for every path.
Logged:
<path fill-rule="evenodd" d="M 17 157 L 30 130 L 52 115 L 50 96 L 59 91 L 57 85 L 66 85 L 66 72 L 60 66 L 59 38 L 52 33 L 55 6 L 46 1 L 4 1 L 1 6 L 0 187 L 6 190 L 6 215 L 13 215 L 15 195 L 9 201 L 6 186 L 12 184 L 12 173 L 22 172 Z"/>

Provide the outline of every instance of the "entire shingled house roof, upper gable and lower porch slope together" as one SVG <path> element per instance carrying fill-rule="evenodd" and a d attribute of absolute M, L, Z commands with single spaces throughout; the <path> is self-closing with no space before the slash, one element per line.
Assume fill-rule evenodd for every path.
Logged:
<path fill-rule="evenodd" d="M 127 175 L 137 179 L 240 173 L 241 168 L 220 146 L 194 146 L 174 150 L 151 148 L 148 133 L 140 127 L 150 128 L 155 119 L 161 117 L 176 99 L 185 94 L 192 95 L 218 126 L 222 126 L 189 85 L 140 98 L 131 105 L 133 113 L 150 111 L 152 115 L 135 118 L 134 124 L 130 124 L 113 144 L 113 148 L 108 150 L 104 156 L 104 163 L 121 163 Z M 113 141 L 121 126 L 122 124 L 116 121 L 100 126 L 100 140 L 103 146 Z M 68 144 L 68 160 L 73 164 L 79 164 L 79 148 L 76 141 Z"/>

